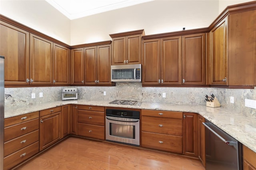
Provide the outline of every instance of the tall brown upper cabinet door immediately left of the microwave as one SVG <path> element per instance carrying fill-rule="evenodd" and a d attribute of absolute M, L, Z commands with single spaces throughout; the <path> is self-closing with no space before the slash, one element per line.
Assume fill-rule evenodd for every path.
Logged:
<path fill-rule="evenodd" d="M 100 45 L 97 51 L 98 85 L 111 84 L 111 45 Z"/>

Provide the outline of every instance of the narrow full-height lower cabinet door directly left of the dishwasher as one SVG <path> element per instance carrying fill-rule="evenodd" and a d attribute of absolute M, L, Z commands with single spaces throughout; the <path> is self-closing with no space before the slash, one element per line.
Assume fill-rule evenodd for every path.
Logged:
<path fill-rule="evenodd" d="M 205 134 L 204 134 L 204 117 L 198 115 L 198 140 L 199 140 L 199 152 L 198 157 L 199 160 L 202 162 L 203 166 L 205 167 Z"/>

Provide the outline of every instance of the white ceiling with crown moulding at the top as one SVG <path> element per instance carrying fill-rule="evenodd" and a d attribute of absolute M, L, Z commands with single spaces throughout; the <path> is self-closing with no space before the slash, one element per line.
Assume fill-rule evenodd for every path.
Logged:
<path fill-rule="evenodd" d="M 46 0 L 70 20 L 152 0 Z"/>

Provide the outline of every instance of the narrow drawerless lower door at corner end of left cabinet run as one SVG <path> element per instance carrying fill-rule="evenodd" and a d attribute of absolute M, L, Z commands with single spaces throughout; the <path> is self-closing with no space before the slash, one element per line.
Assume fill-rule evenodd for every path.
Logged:
<path fill-rule="evenodd" d="M 61 138 L 63 138 L 70 132 L 70 105 L 61 107 L 61 120 Z"/>

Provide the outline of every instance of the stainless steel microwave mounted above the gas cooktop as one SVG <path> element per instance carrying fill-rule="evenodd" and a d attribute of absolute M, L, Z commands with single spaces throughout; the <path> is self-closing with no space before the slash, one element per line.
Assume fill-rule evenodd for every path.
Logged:
<path fill-rule="evenodd" d="M 111 81 L 141 82 L 141 64 L 111 65 Z"/>

